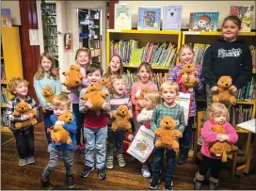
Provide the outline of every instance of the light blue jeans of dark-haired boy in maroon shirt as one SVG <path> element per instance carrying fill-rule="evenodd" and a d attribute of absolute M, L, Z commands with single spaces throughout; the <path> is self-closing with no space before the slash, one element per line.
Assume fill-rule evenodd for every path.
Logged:
<path fill-rule="evenodd" d="M 100 129 L 84 128 L 84 137 L 86 138 L 86 162 L 88 167 L 94 166 L 94 149 L 96 149 L 96 168 L 105 166 L 105 140 L 107 136 L 107 126 Z"/>

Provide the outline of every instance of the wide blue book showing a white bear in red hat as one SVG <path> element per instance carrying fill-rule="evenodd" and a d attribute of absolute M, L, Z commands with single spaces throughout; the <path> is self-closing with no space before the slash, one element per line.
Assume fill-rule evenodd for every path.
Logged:
<path fill-rule="evenodd" d="M 189 31 L 216 32 L 218 24 L 218 12 L 191 12 L 189 19 Z"/>

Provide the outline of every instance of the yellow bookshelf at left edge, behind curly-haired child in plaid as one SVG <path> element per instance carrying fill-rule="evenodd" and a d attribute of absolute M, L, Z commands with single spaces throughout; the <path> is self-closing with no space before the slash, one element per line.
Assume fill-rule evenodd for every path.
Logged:
<path fill-rule="evenodd" d="M 23 77 L 19 27 L 2 26 L 1 41 L 1 132 L 9 133 L 5 113 L 8 100 L 13 96 L 7 91 L 8 82 L 12 77 Z"/>

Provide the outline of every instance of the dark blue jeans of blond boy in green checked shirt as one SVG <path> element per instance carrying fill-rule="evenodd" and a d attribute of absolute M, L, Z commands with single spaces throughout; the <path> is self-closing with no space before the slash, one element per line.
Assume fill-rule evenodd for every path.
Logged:
<path fill-rule="evenodd" d="M 152 162 L 152 177 L 156 179 L 160 179 L 160 169 L 162 167 L 162 159 L 164 158 L 165 148 L 155 148 L 153 151 L 153 162 Z M 175 157 L 176 153 L 173 150 L 166 151 L 167 158 L 167 174 L 166 174 L 166 182 L 172 181 L 174 167 L 175 167 Z"/>

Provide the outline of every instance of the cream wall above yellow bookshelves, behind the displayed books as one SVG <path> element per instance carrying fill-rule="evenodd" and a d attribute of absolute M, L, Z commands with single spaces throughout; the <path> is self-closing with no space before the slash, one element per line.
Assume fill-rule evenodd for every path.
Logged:
<path fill-rule="evenodd" d="M 223 19 L 230 14 L 231 6 L 254 6 L 252 17 L 252 28 L 255 28 L 255 1 L 120 1 L 122 4 L 132 4 L 132 27 L 137 26 L 137 8 L 138 7 L 161 7 L 164 5 L 182 5 L 183 17 L 182 27 L 187 27 L 190 12 L 219 12 L 218 26 Z"/>

